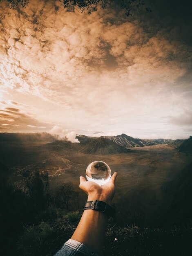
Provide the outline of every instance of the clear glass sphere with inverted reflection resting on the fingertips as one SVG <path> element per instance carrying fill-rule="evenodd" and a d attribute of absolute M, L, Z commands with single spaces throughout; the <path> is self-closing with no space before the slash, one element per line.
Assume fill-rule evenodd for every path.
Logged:
<path fill-rule="evenodd" d="M 102 186 L 110 180 L 111 169 L 105 162 L 95 161 L 87 166 L 86 178 Z"/>

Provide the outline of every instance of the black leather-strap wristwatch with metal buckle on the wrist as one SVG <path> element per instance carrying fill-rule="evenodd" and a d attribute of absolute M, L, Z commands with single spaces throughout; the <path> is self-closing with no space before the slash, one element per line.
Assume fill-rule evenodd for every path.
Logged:
<path fill-rule="evenodd" d="M 94 211 L 101 211 L 106 213 L 108 216 L 114 218 L 115 217 L 115 210 L 109 204 L 103 201 L 94 200 L 94 201 L 87 201 L 83 208 L 84 210 L 92 209 Z"/>

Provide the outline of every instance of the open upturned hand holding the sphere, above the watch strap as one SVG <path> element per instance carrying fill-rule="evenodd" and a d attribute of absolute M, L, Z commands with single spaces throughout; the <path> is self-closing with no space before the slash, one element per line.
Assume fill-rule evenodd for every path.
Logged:
<path fill-rule="evenodd" d="M 100 200 L 110 204 L 115 194 L 114 182 L 116 177 L 117 173 L 115 172 L 105 185 L 99 186 L 95 182 L 86 181 L 84 177 L 80 176 L 79 187 L 88 195 L 87 201 Z"/>

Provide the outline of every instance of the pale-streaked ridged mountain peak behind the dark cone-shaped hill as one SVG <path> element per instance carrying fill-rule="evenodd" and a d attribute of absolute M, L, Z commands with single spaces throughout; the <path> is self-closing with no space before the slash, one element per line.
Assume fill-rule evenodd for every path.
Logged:
<path fill-rule="evenodd" d="M 125 148 L 134 148 L 134 147 L 143 147 L 143 146 L 152 146 L 157 143 L 153 141 L 147 141 L 145 139 L 135 139 L 133 137 L 130 137 L 124 133 L 117 136 L 101 136 L 105 139 L 110 139 L 117 143 L 120 146 L 123 146 Z"/>

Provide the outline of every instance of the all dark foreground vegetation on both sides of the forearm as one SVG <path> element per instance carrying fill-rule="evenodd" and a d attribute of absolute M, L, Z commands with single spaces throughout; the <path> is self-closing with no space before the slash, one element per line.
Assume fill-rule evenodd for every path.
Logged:
<path fill-rule="evenodd" d="M 4 171 L 0 172 L 2 255 L 54 255 L 71 237 L 82 214 L 77 210 L 78 193 L 73 184 L 59 184 L 56 193 L 52 193 L 46 170 L 23 171 L 22 182 L 17 186 L 8 181 Z M 123 216 L 119 211 L 118 214 Z M 105 255 L 186 256 L 190 255 L 191 238 L 191 225 L 174 229 L 116 227 L 110 220 Z"/>

